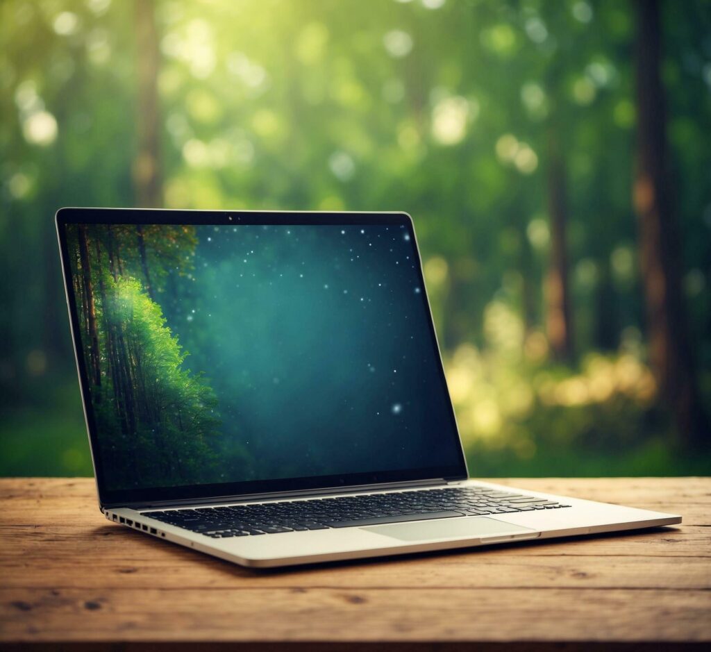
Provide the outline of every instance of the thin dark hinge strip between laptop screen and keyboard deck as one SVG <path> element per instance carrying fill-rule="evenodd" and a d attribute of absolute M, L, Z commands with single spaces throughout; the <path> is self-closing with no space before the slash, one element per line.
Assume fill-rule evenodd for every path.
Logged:
<path fill-rule="evenodd" d="M 301 491 L 274 491 L 272 493 L 249 493 L 235 496 L 215 496 L 214 498 L 193 498 L 181 501 L 147 501 L 142 503 L 104 504 L 104 509 L 127 508 L 134 510 L 156 507 L 186 507 L 191 505 L 219 505 L 220 503 L 247 503 L 253 501 L 276 501 L 279 498 L 308 498 L 309 496 L 324 496 L 336 493 L 361 493 L 372 491 L 387 491 L 388 489 L 407 489 L 411 487 L 441 486 L 447 484 L 444 478 L 416 480 L 410 482 L 389 482 L 378 484 L 358 484 L 351 486 L 327 487 L 319 489 L 304 489 Z"/>

